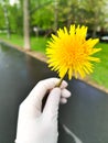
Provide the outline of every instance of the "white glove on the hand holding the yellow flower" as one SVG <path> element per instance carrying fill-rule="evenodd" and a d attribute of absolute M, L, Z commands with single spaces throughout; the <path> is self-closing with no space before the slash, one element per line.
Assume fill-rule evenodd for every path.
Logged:
<path fill-rule="evenodd" d="M 50 78 L 40 81 L 20 105 L 15 143 L 57 143 L 57 116 L 60 101 L 66 103 L 71 92 L 65 89 L 66 81 L 61 88 L 54 88 L 60 81 Z M 42 99 L 50 92 L 42 111 Z"/>

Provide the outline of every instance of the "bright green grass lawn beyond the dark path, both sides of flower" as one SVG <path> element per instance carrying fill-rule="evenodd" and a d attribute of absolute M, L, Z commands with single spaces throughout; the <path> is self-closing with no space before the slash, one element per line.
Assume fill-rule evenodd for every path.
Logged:
<path fill-rule="evenodd" d="M 22 36 L 12 35 L 11 38 L 8 40 L 6 34 L 0 34 L 0 38 L 23 47 Z M 47 40 L 48 38 L 46 37 L 31 37 L 32 51 L 45 53 Z M 94 63 L 94 73 L 90 74 L 88 78 L 96 84 L 108 88 L 108 43 L 99 43 L 96 46 L 102 48 L 99 53 L 96 54 L 96 56 L 98 56 L 101 62 Z"/>

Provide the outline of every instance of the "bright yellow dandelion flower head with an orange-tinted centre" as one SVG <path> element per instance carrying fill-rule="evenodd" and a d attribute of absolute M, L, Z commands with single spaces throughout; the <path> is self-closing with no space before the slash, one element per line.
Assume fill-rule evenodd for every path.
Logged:
<path fill-rule="evenodd" d="M 52 34 L 51 41 L 47 42 L 46 56 L 48 67 L 58 73 L 63 78 L 66 74 L 68 79 L 73 75 L 85 77 L 86 74 L 93 73 L 93 63 L 99 62 L 99 58 L 93 54 L 101 48 L 93 48 L 98 38 L 86 40 L 87 26 L 71 25 L 69 31 L 66 28 L 57 31 L 57 35 Z"/>

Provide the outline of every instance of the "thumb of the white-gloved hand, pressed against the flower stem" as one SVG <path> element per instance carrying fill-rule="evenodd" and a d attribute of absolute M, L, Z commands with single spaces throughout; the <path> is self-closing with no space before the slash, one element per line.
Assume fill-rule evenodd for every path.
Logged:
<path fill-rule="evenodd" d="M 57 120 L 60 99 L 61 99 L 61 89 L 60 88 L 52 89 L 43 110 L 44 118 L 46 117 L 46 119 L 48 118 L 51 120 Z"/>

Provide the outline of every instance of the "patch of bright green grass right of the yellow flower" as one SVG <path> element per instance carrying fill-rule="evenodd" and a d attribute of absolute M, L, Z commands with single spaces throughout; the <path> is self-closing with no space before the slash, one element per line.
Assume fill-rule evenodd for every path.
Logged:
<path fill-rule="evenodd" d="M 99 43 L 97 47 L 102 50 L 96 54 L 100 58 L 100 63 L 94 63 L 94 73 L 90 75 L 91 80 L 100 86 L 108 88 L 108 44 Z"/>

